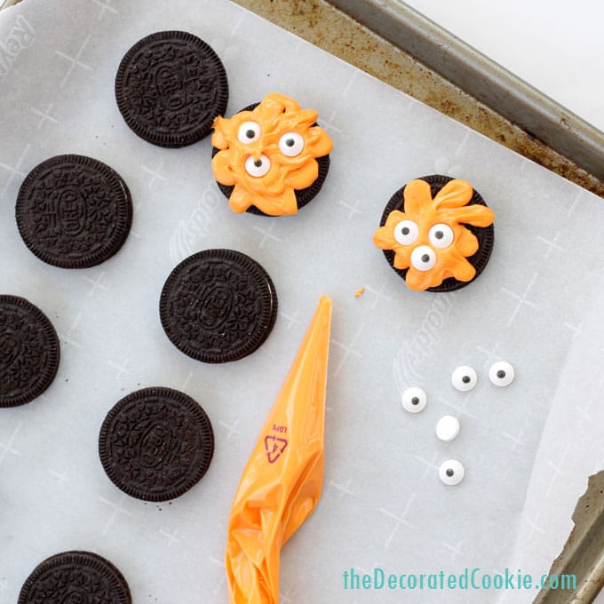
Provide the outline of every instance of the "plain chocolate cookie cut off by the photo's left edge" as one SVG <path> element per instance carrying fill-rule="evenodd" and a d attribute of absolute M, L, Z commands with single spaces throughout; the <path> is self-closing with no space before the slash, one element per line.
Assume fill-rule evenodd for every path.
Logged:
<path fill-rule="evenodd" d="M 0 295 L 0 407 L 44 393 L 59 359 L 59 338 L 48 317 L 25 298 Z"/>

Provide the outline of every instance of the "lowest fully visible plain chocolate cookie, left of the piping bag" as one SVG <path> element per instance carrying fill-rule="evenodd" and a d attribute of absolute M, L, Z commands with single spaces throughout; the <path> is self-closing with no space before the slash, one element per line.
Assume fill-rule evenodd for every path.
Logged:
<path fill-rule="evenodd" d="M 201 481 L 214 453 L 205 411 L 187 394 L 144 388 L 109 411 L 99 433 L 100 462 L 131 497 L 168 501 Z"/>

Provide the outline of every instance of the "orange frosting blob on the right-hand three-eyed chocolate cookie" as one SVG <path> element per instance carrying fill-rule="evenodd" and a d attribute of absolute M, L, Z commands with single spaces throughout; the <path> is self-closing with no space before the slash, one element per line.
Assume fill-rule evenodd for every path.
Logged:
<path fill-rule="evenodd" d="M 477 203 L 467 205 L 472 196 L 472 185 L 465 180 L 449 180 L 434 198 L 429 183 L 421 179 L 411 180 L 403 192 L 404 211 L 391 211 L 384 227 L 379 227 L 373 235 L 373 242 L 378 248 L 393 250 L 394 268 L 409 269 L 405 282 L 412 290 L 437 287 L 449 277 L 457 281 L 472 281 L 476 269 L 465 258 L 476 253 L 479 243 L 465 225 L 489 227 L 495 219 L 493 211 L 486 206 Z M 400 231 L 397 225 L 403 220 L 409 221 L 405 223 L 407 228 L 402 230 L 407 234 L 397 234 L 397 230 Z M 452 234 L 449 244 L 446 239 L 440 243 L 433 238 L 434 235 L 431 239 L 433 228 L 441 229 L 441 237 L 443 230 Z M 421 250 L 418 250 L 420 246 Z M 425 256 L 426 266 L 432 266 L 421 266 L 417 252 L 413 255 L 414 250 Z"/>

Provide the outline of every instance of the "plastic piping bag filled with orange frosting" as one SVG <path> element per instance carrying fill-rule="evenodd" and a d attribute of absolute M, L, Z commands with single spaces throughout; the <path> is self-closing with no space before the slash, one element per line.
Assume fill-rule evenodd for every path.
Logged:
<path fill-rule="evenodd" d="M 279 602 L 282 545 L 321 497 L 330 324 L 322 296 L 243 470 L 228 522 L 231 604 Z"/>

